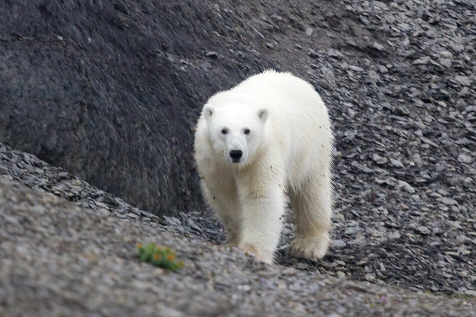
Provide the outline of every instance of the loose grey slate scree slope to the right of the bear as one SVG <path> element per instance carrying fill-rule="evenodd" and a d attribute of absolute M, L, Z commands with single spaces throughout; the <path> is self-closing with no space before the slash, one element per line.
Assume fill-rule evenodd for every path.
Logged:
<path fill-rule="evenodd" d="M 231 9 L 248 12 L 267 54 L 314 83 L 336 132 L 334 246 L 317 264 L 281 262 L 475 295 L 476 2 Z"/>

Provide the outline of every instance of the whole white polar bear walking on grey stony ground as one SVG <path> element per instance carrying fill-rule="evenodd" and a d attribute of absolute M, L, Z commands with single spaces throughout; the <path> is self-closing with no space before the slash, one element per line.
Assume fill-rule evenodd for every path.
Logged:
<path fill-rule="evenodd" d="M 203 195 L 230 244 L 272 263 L 290 200 L 296 236 L 289 251 L 324 256 L 333 134 L 311 84 L 267 70 L 217 92 L 203 106 L 194 147 Z"/>

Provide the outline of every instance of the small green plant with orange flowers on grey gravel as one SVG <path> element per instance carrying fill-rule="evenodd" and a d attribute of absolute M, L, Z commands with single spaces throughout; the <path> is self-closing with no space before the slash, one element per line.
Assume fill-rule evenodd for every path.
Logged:
<path fill-rule="evenodd" d="M 142 243 L 138 243 L 137 249 L 140 259 L 144 262 L 149 262 L 171 271 L 184 267 L 184 262 L 177 260 L 177 254 L 168 246 L 159 246 L 153 242 L 147 243 L 145 246 Z"/>

